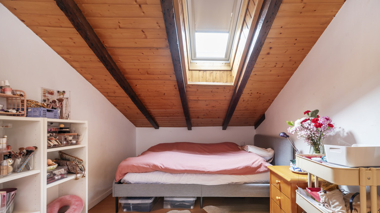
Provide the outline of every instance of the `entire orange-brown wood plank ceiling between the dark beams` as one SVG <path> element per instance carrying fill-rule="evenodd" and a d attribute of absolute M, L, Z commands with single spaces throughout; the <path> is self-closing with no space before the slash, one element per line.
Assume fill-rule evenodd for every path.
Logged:
<path fill-rule="evenodd" d="M 54 0 L 0 2 L 136 127 L 152 127 Z M 187 127 L 160 0 L 75 2 L 157 124 Z M 253 5 L 257 0 L 249 2 Z M 257 123 L 343 3 L 344 0 L 283 0 L 228 126 Z M 247 33 L 246 25 L 242 35 Z M 218 74 L 213 77 L 218 77 L 222 71 L 215 73 Z M 191 125 L 222 126 L 235 87 L 185 87 Z"/>

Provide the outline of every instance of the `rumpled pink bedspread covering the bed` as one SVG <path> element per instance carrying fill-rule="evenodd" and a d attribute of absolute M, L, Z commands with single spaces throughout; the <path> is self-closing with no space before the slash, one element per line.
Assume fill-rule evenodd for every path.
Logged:
<path fill-rule="evenodd" d="M 259 155 L 240 150 L 233 142 L 160 143 L 137 157 L 123 160 L 117 167 L 116 181 L 129 172 L 252 175 L 268 171 L 269 165 Z"/>

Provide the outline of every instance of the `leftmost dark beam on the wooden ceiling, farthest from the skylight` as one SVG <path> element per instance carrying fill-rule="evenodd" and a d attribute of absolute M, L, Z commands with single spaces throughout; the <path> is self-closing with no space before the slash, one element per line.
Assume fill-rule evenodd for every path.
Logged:
<path fill-rule="evenodd" d="M 87 45 L 95 53 L 96 57 L 102 62 L 104 67 L 110 72 L 114 77 L 115 81 L 119 84 L 125 93 L 131 98 L 132 102 L 137 106 L 141 113 L 147 118 L 147 120 L 152 124 L 155 129 L 159 126 L 154 120 L 152 115 L 148 112 L 147 108 L 138 98 L 136 93 L 133 91 L 131 85 L 125 79 L 124 75 L 117 67 L 116 63 L 112 59 L 110 53 L 104 47 L 99 37 L 95 34 L 94 29 L 91 27 L 90 23 L 84 17 L 82 11 L 76 5 L 74 0 L 56 0 L 59 9 L 66 15 L 66 17 L 73 24 L 76 31 L 80 36 L 86 41 Z"/>

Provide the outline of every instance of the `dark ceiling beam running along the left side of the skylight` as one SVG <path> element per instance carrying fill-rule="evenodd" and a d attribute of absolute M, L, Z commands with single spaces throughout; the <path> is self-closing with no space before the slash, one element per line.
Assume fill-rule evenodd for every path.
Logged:
<path fill-rule="evenodd" d="M 173 0 L 161 0 L 162 13 L 164 14 L 166 34 L 173 61 L 175 78 L 177 79 L 179 96 L 181 98 L 183 112 L 185 114 L 186 125 L 188 130 L 191 130 L 190 110 L 188 98 L 186 96 L 185 80 L 181 63 L 181 55 L 178 42 L 178 31 L 175 23 Z"/>

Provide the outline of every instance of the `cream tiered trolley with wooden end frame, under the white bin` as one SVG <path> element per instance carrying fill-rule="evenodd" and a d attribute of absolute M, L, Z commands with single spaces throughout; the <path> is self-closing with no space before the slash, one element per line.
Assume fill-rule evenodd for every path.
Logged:
<path fill-rule="evenodd" d="M 380 185 L 380 168 L 345 167 L 326 162 L 317 162 L 315 160 L 311 160 L 312 157 L 314 156 L 297 154 L 296 165 L 299 168 L 309 172 L 309 174 L 311 173 L 315 175 L 315 177 L 321 177 L 331 183 L 338 185 L 360 186 L 361 213 L 367 212 L 366 186 L 370 186 L 371 212 L 377 212 L 377 186 Z M 312 196 L 307 195 L 307 193 L 306 195 L 303 195 L 302 192 L 297 191 L 296 202 L 306 212 L 326 212 L 320 206 L 315 205 L 313 199 L 308 199 L 307 197 L 312 198 Z"/>

